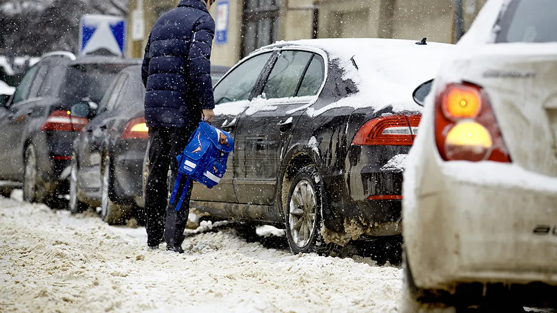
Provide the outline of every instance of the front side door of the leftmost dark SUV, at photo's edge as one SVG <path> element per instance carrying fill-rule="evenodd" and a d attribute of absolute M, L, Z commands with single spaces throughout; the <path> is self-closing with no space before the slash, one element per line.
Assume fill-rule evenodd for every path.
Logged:
<path fill-rule="evenodd" d="M 38 75 L 40 69 L 41 75 Z M 35 95 L 41 86 L 43 75 L 47 67 L 38 64 L 30 68 L 23 76 L 12 101 L 8 107 L 2 110 L 0 116 L 0 176 L 3 179 L 16 179 L 17 174 L 22 172 L 23 157 L 19 149 L 22 142 L 23 131 L 30 120 L 30 103 L 36 101 Z M 33 91 L 33 94 L 31 93 Z"/>

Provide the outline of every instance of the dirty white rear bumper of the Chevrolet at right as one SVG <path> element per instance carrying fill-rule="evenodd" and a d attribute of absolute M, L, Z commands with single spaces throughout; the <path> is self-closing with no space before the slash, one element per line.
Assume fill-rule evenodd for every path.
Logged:
<path fill-rule="evenodd" d="M 427 163 L 427 179 L 404 200 L 418 287 L 557 285 L 557 178 L 504 163 Z"/>

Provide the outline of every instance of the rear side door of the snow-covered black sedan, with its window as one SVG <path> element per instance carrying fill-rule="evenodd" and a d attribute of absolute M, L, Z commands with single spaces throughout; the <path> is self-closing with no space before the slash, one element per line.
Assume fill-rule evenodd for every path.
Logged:
<path fill-rule="evenodd" d="M 324 78 L 323 57 L 309 51 L 282 50 L 261 95 L 238 120 L 234 188 L 240 203 L 272 205 L 277 177 L 292 128 L 315 102 Z"/>

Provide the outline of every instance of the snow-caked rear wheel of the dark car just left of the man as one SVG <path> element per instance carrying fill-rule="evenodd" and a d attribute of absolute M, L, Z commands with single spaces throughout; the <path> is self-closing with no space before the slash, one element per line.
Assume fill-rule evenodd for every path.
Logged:
<path fill-rule="evenodd" d="M 115 203 L 111 199 L 112 183 L 112 163 L 108 153 L 105 153 L 101 170 L 101 218 L 109 225 L 121 225 L 129 215 L 131 206 Z"/>

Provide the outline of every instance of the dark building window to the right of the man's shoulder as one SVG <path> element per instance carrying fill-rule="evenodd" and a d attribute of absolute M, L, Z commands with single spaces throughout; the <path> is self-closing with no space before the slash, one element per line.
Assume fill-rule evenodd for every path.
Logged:
<path fill-rule="evenodd" d="M 278 1 L 244 1 L 242 57 L 257 48 L 277 41 Z"/>

